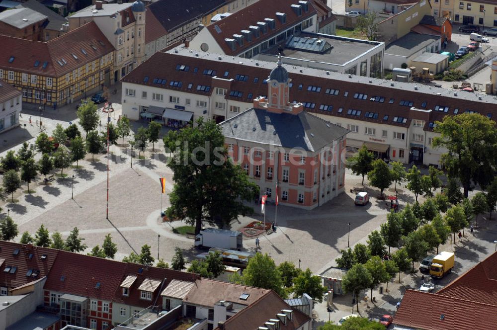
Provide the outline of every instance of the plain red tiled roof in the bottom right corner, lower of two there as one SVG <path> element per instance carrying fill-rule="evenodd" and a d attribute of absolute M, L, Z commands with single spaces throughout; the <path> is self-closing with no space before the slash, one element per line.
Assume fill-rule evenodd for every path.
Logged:
<path fill-rule="evenodd" d="M 393 323 L 422 330 L 497 329 L 497 306 L 406 290 Z"/>

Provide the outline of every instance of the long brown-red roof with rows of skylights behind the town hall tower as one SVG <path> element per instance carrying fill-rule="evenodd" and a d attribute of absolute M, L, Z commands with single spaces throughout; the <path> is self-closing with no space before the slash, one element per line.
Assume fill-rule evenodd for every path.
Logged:
<path fill-rule="evenodd" d="M 212 79 L 212 76 L 218 76 L 221 78 L 233 79 L 232 82 L 227 83 L 228 87 L 224 88 L 243 93 L 242 97 L 235 97 L 230 96 L 230 92 L 228 91 L 225 96 L 227 99 L 251 103 L 251 99 L 248 99 L 250 93 L 252 94 L 251 98 L 267 94 L 267 85 L 263 83 L 263 80 L 267 79 L 270 69 L 263 68 L 262 65 L 255 66 L 254 61 L 251 60 L 249 60 L 249 63 L 251 63 L 250 65 L 240 65 L 234 61 L 226 61 L 225 59 L 227 58 L 228 57 L 221 57 L 221 60 L 217 60 L 217 58 L 216 60 L 211 60 L 203 57 L 195 57 L 193 55 L 184 56 L 181 54 L 159 52 L 124 77 L 122 82 L 211 95 L 214 88 L 211 88 L 209 92 L 205 92 L 196 90 L 196 86 L 212 86 L 217 83 Z M 262 61 L 259 62 L 261 63 Z M 178 65 L 188 66 L 188 72 L 176 70 Z M 368 78 L 364 78 L 362 79 L 362 81 L 364 81 L 363 83 L 357 83 L 354 76 L 352 76 L 354 79 L 349 79 L 347 75 L 325 75 L 325 72 L 321 71 L 323 76 L 316 77 L 305 73 L 297 73 L 297 69 L 292 69 L 292 66 L 284 66 L 288 69 L 290 79 L 292 79 L 293 83 L 292 88 L 290 88 L 290 100 L 315 103 L 314 109 L 305 108 L 306 111 L 313 113 L 400 127 L 409 127 L 412 119 L 421 119 L 426 122 L 424 127 L 424 130 L 426 131 L 432 130 L 432 127 L 429 127 L 429 123 L 440 121 L 444 116 L 454 114 L 456 108 L 459 109 L 458 113 L 471 110 L 477 111 L 484 116 L 491 115 L 493 120 L 496 120 L 497 118 L 497 107 L 495 103 L 488 100 L 475 101 L 475 95 L 469 93 L 465 94 L 467 93 L 465 91 L 458 91 L 459 96 L 452 97 L 447 96 L 446 90 L 444 92 L 443 89 L 440 89 L 440 92 L 444 92 L 444 95 L 437 95 L 435 92 L 438 89 L 435 87 L 430 87 L 431 90 L 429 90 L 429 92 L 428 88 L 423 91 L 422 87 L 420 87 L 419 90 L 414 90 L 413 84 L 410 84 L 410 88 L 400 89 L 391 87 L 391 82 L 386 82 L 384 80 L 372 79 L 371 83 L 369 83 Z M 276 67 L 276 64 L 274 64 L 274 67 Z M 194 72 L 194 68 L 198 68 L 196 73 Z M 205 69 L 214 70 L 215 73 L 213 73 L 212 76 L 205 75 L 203 74 Z M 225 72 L 228 72 L 228 76 L 224 76 Z M 248 75 L 248 81 L 243 82 L 236 80 L 236 75 Z M 144 82 L 145 77 L 149 77 L 147 83 Z M 253 82 L 254 78 L 258 78 L 256 83 Z M 154 79 L 165 79 L 167 80 L 167 83 L 158 84 L 157 81 L 154 83 Z M 170 81 L 182 82 L 182 86 L 170 86 Z M 188 85 L 190 83 L 192 86 L 189 89 Z M 301 89 L 298 88 L 300 84 L 302 84 Z M 400 83 L 394 82 L 394 84 Z M 321 91 L 307 91 L 309 85 L 320 86 Z M 337 95 L 326 94 L 328 88 L 338 89 L 339 93 Z M 348 92 L 348 97 L 344 97 L 345 91 Z M 366 93 L 367 99 L 354 98 L 353 96 L 355 93 Z M 371 101 L 370 98 L 372 96 L 384 97 L 384 102 Z M 390 99 L 393 99 L 392 103 L 389 102 Z M 410 110 L 411 106 L 400 105 L 402 100 L 413 102 L 412 107 L 417 109 L 432 109 L 432 111 L 412 111 Z M 319 109 L 321 104 L 332 105 L 333 108 L 331 111 L 322 111 Z M 448 107 L 449 109 L 447 112 L 435 111 L 437 105 Z M 337 111 L 339 108 L 343 108 L 341 113 Z M 348 109 L 361 110 L 362 115 L 359 117 L 348 115 Z M 366 112 L 377 113 L 378 116 L 377 118 L 366 118 L 363 115 Z M 384 120 L 385 116 L 388 116 L 387 120 Z M 404 117 L 407 121 L 405 123 L 393 122 L 395 117 Z"/>

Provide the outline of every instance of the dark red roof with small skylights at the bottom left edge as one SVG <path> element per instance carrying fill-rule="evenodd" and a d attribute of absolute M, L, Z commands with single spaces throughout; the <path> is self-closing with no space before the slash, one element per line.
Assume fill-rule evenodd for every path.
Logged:
<path fill-rule="evenodd" d="M 13 254 L 18 250 L 16 254 Z M 0 285 L 15 288 L 47 276 L 54 266 L 60 251 L 52 248 L 29 247 L 25 244 L 0 241 Z M 46 258 L 42 258 L 46 255 Z M 31 256 L 31 258 L 30 258 Z M 14 273 L 5 272 L 5 267 L 17 267 Z M 29 270 L 39 270 L 37 276 L 26 276 Z"/>

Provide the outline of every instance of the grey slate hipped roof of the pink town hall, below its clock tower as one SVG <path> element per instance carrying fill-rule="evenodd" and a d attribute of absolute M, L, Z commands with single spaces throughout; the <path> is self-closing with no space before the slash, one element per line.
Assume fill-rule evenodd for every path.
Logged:
<path fill-rule="evenodd" d="M 315 152 L 349 131 L 311 113 L 298 115 L 248 109 L 219 124 L 223 135 L 283 148 Z M 254 130 L 255 128 L 255 130 Z"/>

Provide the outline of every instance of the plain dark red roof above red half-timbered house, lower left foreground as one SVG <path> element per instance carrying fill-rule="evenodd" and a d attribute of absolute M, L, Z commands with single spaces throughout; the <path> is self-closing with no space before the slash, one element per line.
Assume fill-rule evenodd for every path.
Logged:
<path fill-rule="evenodd" d="M 94 256 L 59 251 L 45 290 L 114 301 L 125 278 L 126 264 Z M 97 289 L 96 284 L 100 283 Z M 120 291 L 120 290 L 119 290 Z"/>

